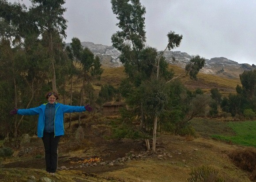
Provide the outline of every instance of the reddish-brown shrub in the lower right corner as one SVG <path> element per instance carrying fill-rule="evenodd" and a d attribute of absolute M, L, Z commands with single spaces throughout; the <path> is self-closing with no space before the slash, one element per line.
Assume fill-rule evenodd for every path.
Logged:
<path fill-rule="evenodd" d="M 246 147 L 241 150 L 234 150 L 229 153 L 229 157 L 233 160 L 234 164 L 252 173 L 252 180 L 256 180 L 256 148 Z"/>

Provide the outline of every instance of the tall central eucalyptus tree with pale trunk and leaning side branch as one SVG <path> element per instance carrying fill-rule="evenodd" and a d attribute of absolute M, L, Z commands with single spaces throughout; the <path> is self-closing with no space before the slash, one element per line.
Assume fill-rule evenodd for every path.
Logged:
<path fill-rule="evenodd" d="M 166 84 L 168 84 L 168 82 L 173 79 L 173 73 L 167 69 L 168 64 L 163 57 L 164 51 L 158 54 L 156 49 L 146 46 L 146 32 L 144 22 L 144 14 L 146 13 L 146 10 L 145 7 L 140 4 L 139 0 L 111 0 L 111 3 L 113 13 L 117 15 L 117 19 L 119 20 L 117 26 L 121 29 L 112 35 L 111 40 L 113 47 L 117 48 L 117 50 L 121 52 L 120 61 L 123 63 L 125 73 L 127 74 L 130 83 L 134 87 L 134 90 L 130 89 L 130 91 L 136 92 L 136 89 L 140 86 L 140 84 L 144 82 L 146 82 L 148 85 L 151 85 L 152 87 L 158 88 L 158 90 L 152 94 L 142 94 L 141 97 L 134 96 L 135 98 L 142 99 L 136 99 L 137 102 L 132 103 L 136 108 L 134 113 L 138 113 L 138 111 L 141 112 L 140 118 L 142 123 L 145 119 L 149 117 L 152 118 L 152 115 L 154 116 L 153 151 L 155 151 L 158 116 L 159 113 L 163 112 L 162 109 L 164 107 L 160 107 L 160 110 L 155 108 L 153 113 L 151 113 L 151 116 L 148 115 L 148 111 L 150 110 L 149 108 L 153 108 L 154 104 L 156 104 L 154 99 L 157 98 L 154 98 L 152 95 L 162 95 L 164 87 L 158 87 L 158 84 L 156 84 L 157 82 L 153 81 L 154 79 L 152 78 L 155 77 L 156 80 L 159 78 L 164 79 L 166 80 Z M 168 44 L 166 49 L 170 50 L 175 47 L 179 47 L 182 40 L 182 35 L 170 31 L 167 34 L 167 37 Z M 195 68 L 196 66 L 192 66 L 188 72 L 191 73 L 191 71 Z M 159 80 L 159 84 L 160 82 L 162 82 L 162 80 Z M 122 82 L 121 84 L 122 86 L 126 87 L 126 84 L 124 83 L 128 82 Z M 128 97 L 133 97 L 132 92 L 125 95 Z M 129 98 L 127 98 L 127 100 L 128 102 L 131 101 Z M 160 100 L 158 100 L 159 103 Z M 149 106 L 146 106 L 144 101 L 152 102 L 147 102 Z M 150 103 L 152 105 L 150 105 Z M 161 100 L 161 103 L 164 104 L 166 102 Z M 137 116 L 139 117 L 139 114 Z M 146 143 L 147 142 L 148 140 L 146 140 Z"/>

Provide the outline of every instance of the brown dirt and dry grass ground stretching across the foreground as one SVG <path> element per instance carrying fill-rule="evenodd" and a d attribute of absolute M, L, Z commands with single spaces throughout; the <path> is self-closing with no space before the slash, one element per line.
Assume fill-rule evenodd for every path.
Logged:
<path fill-rule="evenodd" d="M 146 151 L 143 140 L 106 140 L 102 137 L 102 133 L 95 134 L 95 132 L 86 131 L 87 135 L 83 142 L 77 142 L 71 136 L 72 132 L 69 133 L 61 138 L 58 148 L 58 167 L 65 166 L 68 171 L 96 174 L 104 178 L 117 179 L 118 182 L 159 182 L 159 175 L 162 177 L 162 182 L 184 182 L 189 178 L 192 167 L 206 165 L 218 168 L 220 173 L 229 179 L 226 182 L 250 181 L 249 174 L 236 167 L 228 157 L 230 151 L 242 149 L 242 146 L 230 145 L 209 138 L 158 135 L 157 152 L 153 154 Z M 22 149 L 27 148 L 31 149 L 30 153 L 20 153 Z M 2 162 L 5 169 L 22 168 L 44 171 L 44 148 L 40 138 L 35 138 L 34 141 L 15 150 L 14 157 Z M 126 157 L 128 153 L 147 155 L 144 159 L 135 159 L 132 162 L 124 162 L 122 165 L 100 165 L 102 162 L 111 162 L 117 158 Z M 100 158 L 100 161 L 96 162 L 97 166 L 79 167 L 82 165 L 79 161 L 91 157 Z M 59 173 L 64 174 L 62 171 Z"/>

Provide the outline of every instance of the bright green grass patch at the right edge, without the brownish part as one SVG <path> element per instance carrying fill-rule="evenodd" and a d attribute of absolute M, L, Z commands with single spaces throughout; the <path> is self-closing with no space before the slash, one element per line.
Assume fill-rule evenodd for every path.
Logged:
<path fill-rule="evenodd" d="M 233 129 L 236 135 L 212 135 L 212 137 L 237 145 L 256 147 L 256 121 L 228 122 L 227 125 Z"/>

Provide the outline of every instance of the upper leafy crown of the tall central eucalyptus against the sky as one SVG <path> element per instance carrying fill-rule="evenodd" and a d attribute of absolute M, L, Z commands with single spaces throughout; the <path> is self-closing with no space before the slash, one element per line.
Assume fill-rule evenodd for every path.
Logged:
<path fill-rule="evenodd" d="M 134 0 L 111 0 L 112 10 L 121 29 L 111 37 L 113 47 L 124 53 L 128 51 L 129 44 L 132 44 L 135 51 L 143 49 L 146 42 L 145 32 L 145 7 L 139 1 Z"/>

